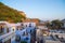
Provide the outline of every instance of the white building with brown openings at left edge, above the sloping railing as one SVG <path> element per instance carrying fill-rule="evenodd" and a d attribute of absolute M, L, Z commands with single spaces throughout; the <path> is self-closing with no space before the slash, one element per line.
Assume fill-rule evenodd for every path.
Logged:
<path fill-rule="evenodd" d="M 0 35 L 9 32 L 9 23 L 0 22 Z"/>

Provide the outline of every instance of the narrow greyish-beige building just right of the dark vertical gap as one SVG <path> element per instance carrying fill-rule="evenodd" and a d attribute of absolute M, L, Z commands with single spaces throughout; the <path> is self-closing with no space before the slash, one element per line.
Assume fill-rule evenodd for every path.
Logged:
<path fill-rule="evenodd" d="M 37 29 L 36 31 L 36 41 L 37 43 L 44 43 L 43 32 L 41 29 Z"/>

